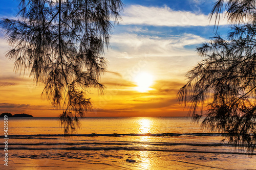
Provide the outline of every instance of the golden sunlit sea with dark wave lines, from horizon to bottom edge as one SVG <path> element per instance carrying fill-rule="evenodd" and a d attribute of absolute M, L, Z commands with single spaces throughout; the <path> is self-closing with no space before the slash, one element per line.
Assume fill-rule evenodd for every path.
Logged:
<path fill-rule="evenodd" d="M 82 118 L 68 137 L 56 117 L 8 118 L 6 152 L 0 127 L 3 169 L 256 169 L 256 155 L 187 117 Z"/>

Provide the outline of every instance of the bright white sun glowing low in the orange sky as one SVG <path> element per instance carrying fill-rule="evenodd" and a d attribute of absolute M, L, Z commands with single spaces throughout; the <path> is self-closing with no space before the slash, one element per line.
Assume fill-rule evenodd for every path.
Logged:
<path fill-rule="evenodd" d="M 153 76 L 147 72 L 141 72 L 134 78 L 134 81 L 137 84 L 137 91 L 147 92 L 151 90 L 150 86 L 153 84 Z"/>

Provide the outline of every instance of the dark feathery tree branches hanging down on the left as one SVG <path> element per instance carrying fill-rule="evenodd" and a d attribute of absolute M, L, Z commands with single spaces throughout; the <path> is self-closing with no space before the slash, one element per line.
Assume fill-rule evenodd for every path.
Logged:
<path fill-rule="evenodd" d="M 90 87 L 103 92 L 99 78 L 106 68 L 102 57 L 120 0 L 20 0 L 15 19 L 2 18 L 0 25 L 12 47 L 15 71 L 45 84 L 42 96 L 62 108 L 65 134 L 79 126 L 78 117 L 92 108 Z"/>

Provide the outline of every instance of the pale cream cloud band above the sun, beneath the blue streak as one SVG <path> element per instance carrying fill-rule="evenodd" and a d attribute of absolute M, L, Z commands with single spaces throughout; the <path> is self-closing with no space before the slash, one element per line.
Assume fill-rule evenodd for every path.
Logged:
<path fill-rule="evenodd" d="M 186 48 L 186 45 L 196 45 L 207 40 L 194 34 L 169 35 L 165 37 L 137 34 L 113 35 L 111 45 L 113 50 L 109 57 L 172 57 L 195 55 L 195 50 Z M 193 54 L 194 53 L 194 54 Z"/>

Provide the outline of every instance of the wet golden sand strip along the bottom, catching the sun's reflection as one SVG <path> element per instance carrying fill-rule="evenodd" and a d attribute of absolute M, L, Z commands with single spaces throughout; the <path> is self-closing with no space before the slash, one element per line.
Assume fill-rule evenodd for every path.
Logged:
<path fill-rule="evenodd" d="M 153 154 L 155 155 L 153 156 Z M 162 156 L 159 154 L 162 154 Z M 9 160 L 6 169 L 256 169 L 255 162 L 245 155 L 225 155 L 223 157 L 221 154 L 216 154 L 211 158 L 207 157 L 206 154 L 187 153 L 186 156 L 184 156 L 184 153 L 162 152 L 147 153 L 147 155 L 147 158 L 136 158 L 136 162 L 126 162 L 126 157 L 111 162 L 106 162 L 106 159 L 102 159 L 102 161 L 81 159 L 78 161 L 77 159 L 19 158 Z M 170 155 L 176 159 L 170 159 Z M 234 161 L 230 161 L 230 158 L 233 158 Z M 155 162 L 151 162 L 152 159 Z M 226 162 L 225 159 L 229 161 Z M 239 159 L 243 159 L 245 164 L 237 164 L 236 160 Z"/>

